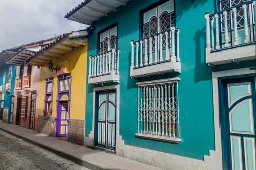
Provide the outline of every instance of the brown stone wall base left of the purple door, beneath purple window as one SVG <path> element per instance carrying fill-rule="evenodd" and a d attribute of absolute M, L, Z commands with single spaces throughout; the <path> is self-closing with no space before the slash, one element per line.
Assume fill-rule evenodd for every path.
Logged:
<path fill-rule="evenodd" d="M 37 132 L 55 136 L 55 117 L 46 120 L 43 119 L 43 116 L 38 116 Z"/>

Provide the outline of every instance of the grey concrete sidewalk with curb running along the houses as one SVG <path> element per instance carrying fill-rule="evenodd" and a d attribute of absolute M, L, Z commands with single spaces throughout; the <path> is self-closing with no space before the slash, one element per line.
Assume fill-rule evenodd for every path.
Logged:
<path fill-rule="evenodd" d="M 0 121 L 0 130 L 20 137 L 24 141 L 35 144 L 61 157 L 71 160 L 92 170 L 160 170 L 157 167 L 134 160 L 108 154 L 101 150 L 93 150 L 84 146 L 71 144 L 55 137 L 48 137 L 36 131 L 7 124 Z"/>

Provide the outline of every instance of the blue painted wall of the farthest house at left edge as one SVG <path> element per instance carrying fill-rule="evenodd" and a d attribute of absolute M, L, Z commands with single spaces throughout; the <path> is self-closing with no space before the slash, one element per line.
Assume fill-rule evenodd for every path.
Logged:
<path fill-rule="evenodd" d="M 10 65 L 6 64 L 0 67 L 0 84 L 5 84 L 8 82 L 7 74 L 9 73 L 9 67 Z M 5 75 L 5 82 L 3 83 L 3 71 L 6 70 Z M 8 117 L 8 123 L 10 123 L 10 114 L 11 114 L 11 96 L 14 94 L 14 87 L 15 87 L 15 78 L 16 78 L 16 65 L 13 65 L 13 71 L 12 71 L 12 83 L 11 83 L 11 91 L 10 93 L 4 92 L 4 108 L 9 108 L 9 117 Z"/>

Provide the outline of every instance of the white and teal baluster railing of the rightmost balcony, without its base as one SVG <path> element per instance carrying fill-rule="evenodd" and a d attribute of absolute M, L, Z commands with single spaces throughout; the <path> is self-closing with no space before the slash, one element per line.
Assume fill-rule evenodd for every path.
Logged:
<path fill-rule="evenodd" d="M 209 14 L 206 12 L 206 55 L 255 44 L 255 1 Z"/>

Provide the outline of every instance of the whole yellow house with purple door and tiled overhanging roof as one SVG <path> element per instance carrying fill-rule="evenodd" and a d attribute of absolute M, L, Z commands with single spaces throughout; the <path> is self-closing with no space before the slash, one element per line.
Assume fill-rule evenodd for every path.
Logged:
<path fill-rule="evenodd" d="M 83 144 L 87 42 L 86 33 L 73 34 L 61 36 L 28 62 L 41 67 L 38 132 Z"/>

